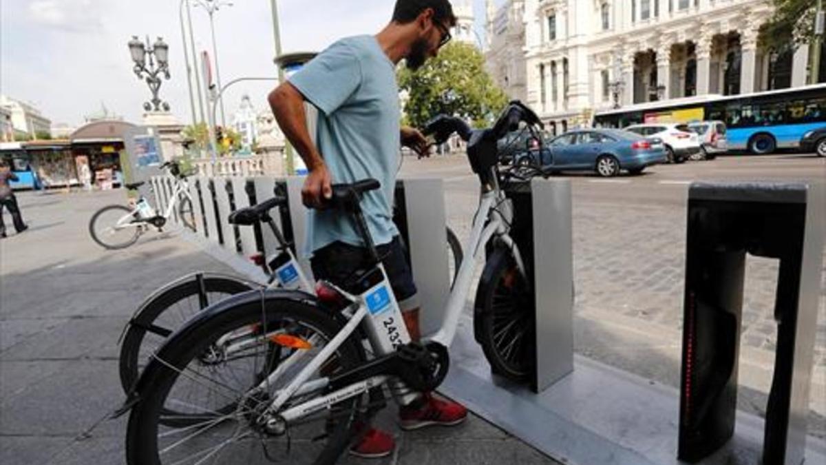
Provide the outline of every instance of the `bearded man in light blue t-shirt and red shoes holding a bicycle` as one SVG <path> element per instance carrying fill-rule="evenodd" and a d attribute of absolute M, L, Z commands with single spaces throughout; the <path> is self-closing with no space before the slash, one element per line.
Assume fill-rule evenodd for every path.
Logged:
<path fill-rule="evenodd" d="M 419 304 L 392 222 L 392 202 L 401 145 L 420 156 L 428 156 L 429 149 L 420 132 L 400 125 L 396 65 L 401 60 L 413 70 L 424 65 L 450 40 L 455 24 L 448 0 L 397 0 L 392 22 L 376 36 L 336 42 L 269 94 L 278 125 L 310 171 L 301 197 L 311 209 L 307 252 L 312 252 L 313 273 L 318 279 L 340 283 L 366 261 L 352 219 L 324 206 L 334 182 L 379 180 L 382 189 L 365 194 L 362 209 L 414 340 L 420 337 Z M 317 146 L 307 131 L 305 101 L 320 110 Z M 417 429 L 459 424 L 467 410 L 425 394 L 399 414 L 402 429 Z M 369 458 L 392 453 L 389 434 L 365 429 L 360 436 L 350 453 Z"/>

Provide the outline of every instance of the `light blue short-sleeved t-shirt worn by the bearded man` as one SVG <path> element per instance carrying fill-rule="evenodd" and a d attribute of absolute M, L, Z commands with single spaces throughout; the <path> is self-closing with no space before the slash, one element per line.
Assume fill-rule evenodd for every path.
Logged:
<path fill-rule="evenodd" d="M 289 79 L 319 108 L 316 144 L 333 183 L 373 178 L 381 189 L 361 206 L 376 245 L 398 234 L 392 220 L 400 155 L 401 105 L 396 67 L 373 36 L 335 42 Z M 353 218 L 337 210 L 310 210 L 306 253 L 341 241 L 362 246 Z"/>

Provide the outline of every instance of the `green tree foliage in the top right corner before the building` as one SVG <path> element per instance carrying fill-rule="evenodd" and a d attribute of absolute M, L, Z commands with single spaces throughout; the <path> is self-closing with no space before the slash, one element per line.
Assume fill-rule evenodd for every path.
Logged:
<path fill-rule="evenodd" d="M 771 50 L 787 50 L 814 40 L 817 0 L 767 0 L 774 16 L 760 29 L 760 43 Z"/>

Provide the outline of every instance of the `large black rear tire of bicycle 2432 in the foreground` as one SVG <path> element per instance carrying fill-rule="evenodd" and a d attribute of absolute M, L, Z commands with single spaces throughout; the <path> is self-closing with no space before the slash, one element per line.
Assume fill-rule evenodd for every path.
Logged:
<path fill-rule="evenodd" d="M 269 463 L 267 460 L 272 455 L 273 448 L 285 448 L 287 453 L 291 453 L 289 443 L 292 437 L 290 435 L 282 435 L 281 437 L 268 437 L 264 445 L 263 440 L 259 439 L 258 431 L 254 431 L 253 427 L 248 423 L 252 423 L 252 419 L 246 416 L 249 411 L 244 412 L 240 407 L 240 413 L 236 415 L 221 415 L 216 416 L 211 422 L 201 424 L 201 429 L 192 433 L 192 428 L 199 425 L 190 426 L 187 429 L 172 429 L 161 431 L 162 424 L 159 421 L 161 412 L 164 410 L 164 403 L 168 400 L 170 392 L 173 391 L 173 385 L 179 378 L 186 379 L 187 376 L 180 376 L 179 373 L 188 364 L 194 361 L 200 353 L 211 345 L 212 341 L 221 338 L 226 333 L 231 333 L 238 328 L 249 327 L 252 324 L 259 324 L 263 322 L 263 314 L 266 314 L 267 324 L 271 327 L 278 324 L 295 324 L 296 327 L 307 328 L 320 334 L 321 338 L 329 341 L 338 333 L 343 324 L 334 319 L 328 314 L 325 314 L 317 309 L 312 304 L 307 304 L 301 300 L 290 298 L 269 297 L 264 300 L 266 302 L 266 311 L 262 310 L 262 300 L 246 300 L 240 301 L 238 304 L 230 304 L 225 309 L 216 311 L 214 314 L 205 315 L 205 318 L 200 319 L 194 324 L 188 325 L 186 331 L 182 332 L 180 337 L 173 338 L 164 345 L 164 348 L 159 352 L 158 359 L 154 361 L 155 364 L 147 369 L 150 375 L 145 383 L 145 390 L 140 392 L 140 402 L 136 404 L 131 410 L 129 424 L 126 431 L 126 460 L 129 465 L 164 465 L 169 463 L 178 463 L 178 458 L 170 457 L 164 462 L 161 461 L 159 452 L 169 453 L 189 453 L 189 450 L 180 448 L 186 446 L 183 440 L 177 440 L 177 437 L 170 437 L 174 434 L 185 435 L 184 440 L 190 444 L 188 447 L 198 447 L 200 441 L 208 441 L 205 451 L 207 455 L 203 455 L 204 451 L 194 453 L 194 457 L 201 458 L 215 458 L 216 463 L 223 463 L 217 461 L 220 457 L 213 457 L 216 454 L 215 443 L 218 443 L 217 448 L 227 448 L 226 453 L 230 454 L 230 463 Z M 363 350 L 358 346 L 357 338 L 348 338 L 342 343 L 335 352 L 336 363 L 333 365 L 335 372 L 345 372 L 347 370 L 358 367 L 366 361 Z M 330 365 L 328 365 L 330 367 Z M 327 375 L 329 376 L 329 375 Z M 185 381 L 185 380 L 184 380 Z M 207 381 L 202 381 L 206 383 Z M 285 382 L 288 382 L 285 380 Z M 247 386 L 244 389 L 249 389 Z M 228 391 L 227 391 L 228 392 Z M 226 394 L 225 394 L 226 395 Z M 304 442 L 301 437 L 294 440 L 301 441 L 297 447 L 297 454 L 299 458 L 308 457 L 313 454 L 315 458 L 312 463 L 334 463 L 337 458 L 344 452 L 344 449 L 349 445 L 350 439 L 354 435 L 356 424 L 360 419 L 359 409 L 362 404 L 363 396 L 351 397 L 347 400 L 342 400 L 335 404 L 333 408 L 324 410 L 324 414 L 335 414 L 334 419 L 321 418 L 318 429 L 324 433 L 322 439 L 314 439 L 313 441 Z M 189 399 L 189 398 L 188 398 Z M 173 399 L 174 400 L 174 397 Z M 240 405 L 240 404 L 237 404 Z M 252 405 L 252 404 L 250 404 Z M 266 405 L 265 400 L 259 405 L 252 405 L 253 407 L 260 407 Z M 214 412 L 214 410 L 203 409 L 195 411 L 200 412 Z M 193 414 L 194 415 L 194 414 Z M 201 418 L 207 416 L 206 413 L 200 414 Z M 254 416 L 254 414 L 249 415 Z M 204 424 L 207 424 L 204 426 Z M 225 428 L 229 427 L 229 428 Z M 313 431 L 304 431 L 305 425 L 295 425 L 290 429 L 290 434 L 303 435 L 305 433 L 312 434 Z M 209 438 L 198 439 L 198 435 L 202 434 L 206 429 L 210 429 Z M 219 442 L 215 439 L 216 435 L 226 429 L 227 434 L 232 434 L 227 441 Z M 252 433 L 254 431 L 254 434 Z M 242 434 L 243 433 L 243 434 Z M 230 441 L 238 439 L 245 439 L 249 435 L 253 436 L 254 441 L 260 441 L 261 447 L 254 444 L 254 448 L 244 448 L 242 445 L 241 452 L 256 453 L 258 461 L 249 458 L 243 458 L 240 453 L 231 450 L 235 445 Z M 312 437 L 312 436 L 310 436 Z M 165 443 L 166 441 L 173 442 L 173 448 L 162 447 L 159 445 L 159 439 Z M 287 439 L 286 447 L 284 439 Z M 321 444 L 321 440 L 325 443 Z M 242 443 L 244 444 L 244 443 Z M 262 450 L 262 448 L 266 449 Z M 318 455 L 314 455 L 316 450 Z M 218 449 L 219 451 L 221 449 Z M 268 454 L 268 458 L 263 458 L 264 454 Z M 291 463 L 297 463 L 296 459 L 292 459 Z"/>

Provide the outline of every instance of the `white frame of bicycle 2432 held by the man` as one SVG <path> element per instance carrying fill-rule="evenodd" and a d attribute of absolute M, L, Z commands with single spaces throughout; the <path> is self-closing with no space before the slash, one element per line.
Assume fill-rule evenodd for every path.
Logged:
<path fill-rule="evenodd" d="M 444 347 L 449 347 L 451 343 L 453 343 L 453 338 L 455 337 L 456 330 L 458 328 L 458 319 L 462 313 L 464 303 L 468 298 L 468 292 L 470 291 L 472 284 L 474 268 L 476 267 L 478 259 L 483 253 L 485 253 L 485 245 L 491 240 L 491 237 L 496 235 L 496 237 L 510 249 L 515 259 L 515 265 L 520 273 L 523 276 L 526 276 L 525 264 L 520 255 L 519 248 L 508 234 L 513 216 L 512 209 L 510 208 L 510 201 L 505 198 L 505 195 L 501 192 L 501 189 L 499 189 L 498 183 L 496 182 L 496 176 L 494 176 L 493 184 L 493 186 L 489 186 L 488 189 L 485 189 L 482 192 L 479 207 L 474 217 L 471 235 L 468 238 L 465 248 L 465 250 L 470 253 L 464 256 L 459 267 L 458 278 L 449 296 L 442 327 L 439 331 L 437 331 L 437 333 L 429 338 L 426 338 L 428 341 L 440 343 Z M 379 264 L 378 267 L 383 273 L 383 266 Z M 385 280 L 387 280 L 386 275 Z M 318 368 L 330 357 L 330 355 L 332 355 L 332 353 L 335 352 L 335 350 L 337 350 L 339 346 L 353 334 L 356 328 L 365 323 L 365 317 L 368 316 L 368 305 L 364 299 L 360 296 L 349 295 L 347 292 L 339 289 L 338 287 L 335 289 L 354 303 L 351 305 L 351 308 L 354 308 L 353 314 L 344 328 L 342 328 L 342 330 L 339 331 L 339 333 L 337 333 L 335 337 L 332 338 L 332 340 L 330 340 L 330 342 L 327 343 L 327 345 L 325 345 L 325 347 L 322 348 L 318 354 L 316 354 L 315 357 L 313 357 L 311 362 L 309 362 L 306 367 L 301 369 L 301 372 L 299 372 L 297 376 L 293 378 L 289 384 L 287 384 L 287 386 L 273 394 L 274 399 L 268 406 L 267 413 L 269 415 L 278 415 L 278 418 L 287 422 L 287 424 L 291 421 L 301 419 L 306 415 L 311 415 L 319 410 L 323 410 L 342 400 L 349 399 L 350 397 L 354 397 L 356 395 L 361 395 L 373 387 L 380 386 L 384 382 L 389 381 L 388 376 L 372 376 L 368 379 L 355 382 L 349 386 L 344 386 L 336 391 L 330 392 L 327 395 L 317 397 L 316 399 L 309 400 L 300 405 L 292 406 L 291 408 L 278 413 L 282 406 L 286 404 L 287 400 L 291 399 L 293 396 L 304 395 L 308 392 L 318 391 L 329 386 L 329 378 L 319 378 L 310 382 L 307 381 L 310 380 L 312 374 L 318 370 Z M 402 340 L 401 343 L 410 343 L 410 340 L 409 338 L 406 338 L 406 340 Z M 375 351 L 377 348 L 374 347 L 373 349 Z M 377 355 L 385 354 L 377 352 Z M 271 373 L 267 379 L 262 381 L 259 386 L 256 386 L 254 390 L 267 390 L 268 386 L 271 386 L 278 381 L 278 378 L 287 371 L 288 367 L 292 367 L 305 356 L 306 351 L 297 350 L 292 353 L 290 357 L 287 357 L 287 359 L 282 362 L 282 365 L 285 366 L 283 369 L 279 366 L 275 372 Z M 410 396 L 398 395 L 396 392 L 394 392 L 393 395 L 402 405 L 407 405 L 412 399 L 415 399 L 415 396 L 411 399 Z"/>

